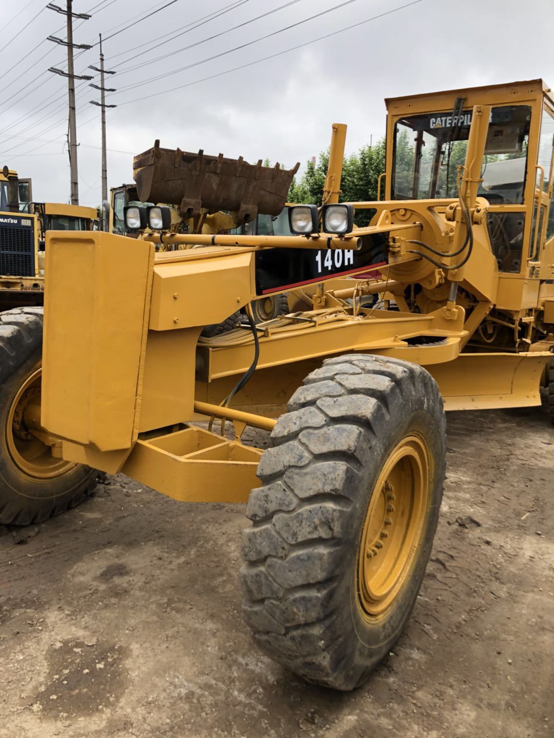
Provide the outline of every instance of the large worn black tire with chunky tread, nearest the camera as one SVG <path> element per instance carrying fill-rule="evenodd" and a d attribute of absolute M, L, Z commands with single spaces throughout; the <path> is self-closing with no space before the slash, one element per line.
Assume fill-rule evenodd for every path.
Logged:
<path fill-rule="evenodd" d="M 354 689 L 403 631 L 431 554 L 445 475 L 442 398 L 417 365 L 353 354 L 324 362 L 288 407 L 259 463 L 263 486 L 248 501 L 243 614 L 257 644 L 283 666 L 324 686 Z M 365 548 L 364 523 L 383 490 L 394 489 L 383 483 L 383 464 L 408 438 L 423 439 L 428 449 L 420 534 L 406 547 L 390 606 L 372 615 L 360 599 L 360 566 L 377 556 Z M 378 535 L 388 534 L 383 528 Z"/>

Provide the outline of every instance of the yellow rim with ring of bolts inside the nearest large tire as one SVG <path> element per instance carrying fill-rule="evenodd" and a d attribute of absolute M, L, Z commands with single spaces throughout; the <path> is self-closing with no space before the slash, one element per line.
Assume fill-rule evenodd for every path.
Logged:
<path fill-rule="evenodd" d="M 416 435 L 391 452 L 372 492 L 358 555 L 358 602 L 381 615 L 409 576 L 420 543 L 428 498 L 429 453 Z"/>

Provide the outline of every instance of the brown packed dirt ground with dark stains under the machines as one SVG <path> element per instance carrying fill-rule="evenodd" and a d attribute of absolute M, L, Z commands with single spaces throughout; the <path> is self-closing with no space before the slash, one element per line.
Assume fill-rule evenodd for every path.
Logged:
<path fill-rule="evenodd" d="M 110 477 L 64 516 L 0 535 L 0 736 L 553 737 L 553 494 L 544 410 L 448 415 L 414 614 L 369 683 L 338 694 L 251 643 L 243 506 Z"/>

